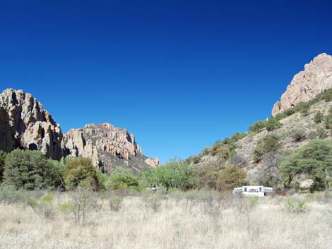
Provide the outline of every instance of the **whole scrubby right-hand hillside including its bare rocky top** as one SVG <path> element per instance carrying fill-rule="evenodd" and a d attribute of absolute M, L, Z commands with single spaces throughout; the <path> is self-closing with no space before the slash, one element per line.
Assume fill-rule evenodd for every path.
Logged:
<path fill-rule="evenodd" d="M 302 80 L 299 80 L 300 76 Z M 307 79 L 312 81 L 304 84 Z M 310 85 L 310 92 L 304 90 L 303 84 Z M 187 162 L 205 175 L 206 171 L 210 175 L 216 174 L 228 164 L 237 165 L 247 171 L 247 180 L 251 183 L 280 184 L 278 167 L 287 155 L 311 140 L 332 140 L 331 84 L 332 56 L 321 54 L 307 64 L 303 72 L 295 75 L 295 80 L 278 102 L 281 109 L 276 110 L 275 105 L 270 119 L 257 121 L 246 133 L 235 133 L 223 141 L 218 140 L 212 147 L 189 157 Z M 292 97 L 295 100 L 285 100 Z M 309 188 L 311 184 L 305 174 L 298 175 L 293 183 L 301 188 Z"/>

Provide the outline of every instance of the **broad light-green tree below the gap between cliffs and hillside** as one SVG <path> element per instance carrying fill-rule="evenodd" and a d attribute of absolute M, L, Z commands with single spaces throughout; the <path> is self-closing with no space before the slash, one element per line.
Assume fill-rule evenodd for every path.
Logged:
<path fill-rule="evenodd" d="M 166 190 L 189 190 L 198 186 L 195 169 L 182 160 L 172 160 L 155 168 L 145 168 L 141 176 L 148 187 L 162 186 Z"/>

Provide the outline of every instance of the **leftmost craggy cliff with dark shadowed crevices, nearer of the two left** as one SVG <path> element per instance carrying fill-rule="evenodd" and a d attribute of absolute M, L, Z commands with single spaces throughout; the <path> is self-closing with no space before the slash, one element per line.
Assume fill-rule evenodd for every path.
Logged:
<path fill-rule="evenodd" d="M 0 149 L 41 150 L 47 157 L 64 156 L 63 134 L 37 99 L 22 90 L 6 89 L 0 95 Z"/>

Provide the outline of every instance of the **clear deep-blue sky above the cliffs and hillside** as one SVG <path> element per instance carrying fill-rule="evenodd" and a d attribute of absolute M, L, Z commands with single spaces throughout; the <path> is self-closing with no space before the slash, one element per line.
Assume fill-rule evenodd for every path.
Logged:
<path fill-rule="evenodd" d="M 10 5 L 8 5 L 10 4 Z M 1 1 L 0 87 L 32 93 L 65 132 L 129 129 L 186 158 L 266 119 L 332 46 L 331 1 Z"/>

